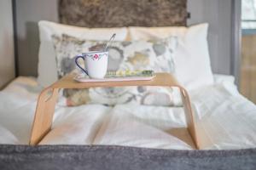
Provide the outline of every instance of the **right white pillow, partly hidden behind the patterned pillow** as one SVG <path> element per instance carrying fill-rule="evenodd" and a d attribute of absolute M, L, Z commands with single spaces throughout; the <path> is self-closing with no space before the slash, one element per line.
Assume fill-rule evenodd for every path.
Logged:
<path fill-rule="evenodd" d="M 129 27 L 131 40 L 177 37 L 175 76 L 188 89 L 213 83 L 207 30 L 208 24 L 190 27 Z"/>

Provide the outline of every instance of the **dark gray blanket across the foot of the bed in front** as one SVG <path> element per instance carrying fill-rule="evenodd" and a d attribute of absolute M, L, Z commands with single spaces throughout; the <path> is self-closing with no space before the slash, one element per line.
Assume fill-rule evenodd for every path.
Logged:
<path fill-rule="evenodd" d="M 108 145 L 0 145 L 0 169 L 256 169 L 256 149 L 157 150 Z"/>

